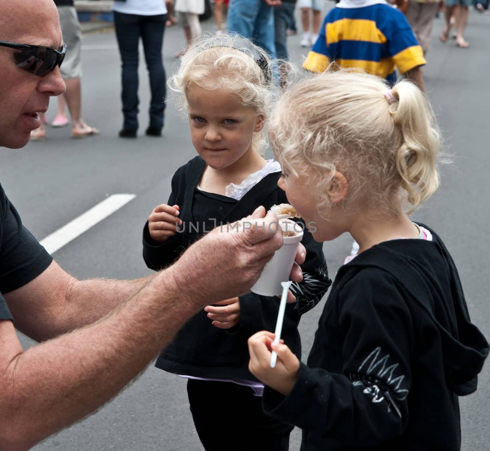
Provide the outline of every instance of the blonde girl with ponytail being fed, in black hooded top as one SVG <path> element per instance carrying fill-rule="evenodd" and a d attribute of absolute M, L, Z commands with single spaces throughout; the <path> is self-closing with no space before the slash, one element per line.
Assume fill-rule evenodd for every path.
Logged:
<path fill-rule="evenodd" d="M 337 272 L 307 365 L 269 331 L 249 338 L 265 412 L 303 429 L 302 450 L 460 450 L 458 396 L 476 390 L 489 344 L 441 238 L 409 216 L 440 182 L 425 95 L 406 80 L 315 75 L 284 93 L 269 138 L 313 237 L 348 232 L 360 248 Z"/>

